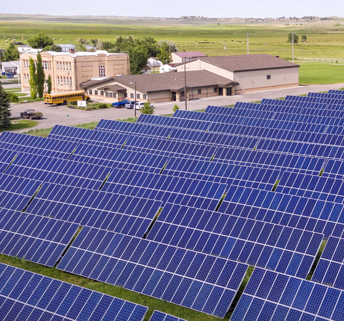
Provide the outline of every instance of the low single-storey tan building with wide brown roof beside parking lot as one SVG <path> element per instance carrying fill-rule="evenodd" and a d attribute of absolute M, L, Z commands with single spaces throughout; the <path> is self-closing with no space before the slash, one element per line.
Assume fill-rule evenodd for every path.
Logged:
<path fill-rule="evenodd" d="M 88 80 L 80 86 L 91 99 L 117 102 L 124 98 L 150 101 L 151 103 L 183 101 L 184 73 L 166 72 L 152 74 L 123 75 L 102 80 Z M 233 86 L 238 83 L 207 70 L 186 72 L 186 98 L 199 99 L 233 94 Z"/>

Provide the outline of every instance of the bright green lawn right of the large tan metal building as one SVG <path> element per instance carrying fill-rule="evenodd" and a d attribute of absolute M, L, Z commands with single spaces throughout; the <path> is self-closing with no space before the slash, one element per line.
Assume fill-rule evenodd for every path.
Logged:
<path fill-rule="evenodd" d="M 344 83 L 344 64 L 300 63 L 300 84 Z"/>

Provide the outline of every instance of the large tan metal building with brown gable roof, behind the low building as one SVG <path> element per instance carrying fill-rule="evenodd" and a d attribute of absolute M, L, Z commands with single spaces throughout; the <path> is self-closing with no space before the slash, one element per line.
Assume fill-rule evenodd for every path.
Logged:
<path fill-rule="evenodd" d="M 200 57 L 187 61 L 185 67 L 186 71 L 208 70 L 238 83 L 235 93 L 299 84 L 299 65 L 270 54 Z M 176 68 L 184 71 L 184 63 Z"/>

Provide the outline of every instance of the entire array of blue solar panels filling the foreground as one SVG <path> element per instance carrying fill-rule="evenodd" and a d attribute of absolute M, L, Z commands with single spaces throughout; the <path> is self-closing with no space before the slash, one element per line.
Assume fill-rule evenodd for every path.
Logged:
<path fill-rule="evenodd" d="M 250 265 L 231 320 L 342 321 L 343 182 L 342 91 L 6 131 L 0 253 L 221 318 Z M 146 310 L 0 264 L 0 319 Z"/>

